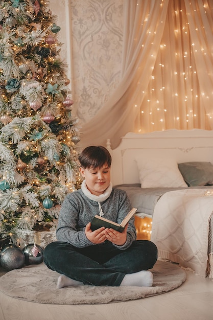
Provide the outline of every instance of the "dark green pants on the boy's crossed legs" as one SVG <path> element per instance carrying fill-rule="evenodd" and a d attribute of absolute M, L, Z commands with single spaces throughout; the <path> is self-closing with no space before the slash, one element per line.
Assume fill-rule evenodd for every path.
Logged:
<path fill-rule="evenodd" d="M 77 248 L 66 242 L 52 242 L 44 249 L 44 263 L 71 279 L 94 286 L 120 286 L 127 273 L 151 269 L 157 260 L 157 247 L 137 240 L 126 250 L 110 242 Z"/>

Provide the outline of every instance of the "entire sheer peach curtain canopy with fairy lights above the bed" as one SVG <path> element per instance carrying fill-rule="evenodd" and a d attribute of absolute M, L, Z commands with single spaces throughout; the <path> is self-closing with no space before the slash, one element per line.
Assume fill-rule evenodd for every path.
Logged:
<path fill-rule="evenodd" d="M 119 86 L 82 127 L 82 147 L 129 131 L 212 129 L 211 0 L 124 0 Z"/>

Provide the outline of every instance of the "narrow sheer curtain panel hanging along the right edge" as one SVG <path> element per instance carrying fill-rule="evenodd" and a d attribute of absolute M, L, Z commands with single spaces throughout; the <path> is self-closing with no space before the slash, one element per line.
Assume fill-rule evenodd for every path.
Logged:
<path fill-rule="evenodd" d="M 213 2 L 185 0 L 186 15 L 199 81 L 201 107 L 208 126 L 213 129 Z"/>

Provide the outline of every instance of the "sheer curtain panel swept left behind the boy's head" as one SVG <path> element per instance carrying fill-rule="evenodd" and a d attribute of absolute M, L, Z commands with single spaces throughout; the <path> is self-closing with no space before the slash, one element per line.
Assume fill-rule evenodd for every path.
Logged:
<path fill-rule="evenodd" d="M 82 127 L 81 145 L 112 147 L 128 131 L 143 100 L 157 57 L 169 0 L 124 0 L 124 45 L 122 78 L 119 86 L 97 115 Z M 153 23 L 154 22 L 154 23 Z"/>

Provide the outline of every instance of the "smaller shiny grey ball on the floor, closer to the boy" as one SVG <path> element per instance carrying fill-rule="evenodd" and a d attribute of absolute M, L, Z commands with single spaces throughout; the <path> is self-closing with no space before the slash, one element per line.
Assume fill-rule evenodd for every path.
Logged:
<path fill-rule="evenodd" d="M 25 263 L 27 265 L 43 262 L 43 249 L 36 243 L 28 244 L 22 249 L 22 253 L 25 255 Z"/>

